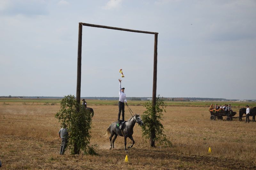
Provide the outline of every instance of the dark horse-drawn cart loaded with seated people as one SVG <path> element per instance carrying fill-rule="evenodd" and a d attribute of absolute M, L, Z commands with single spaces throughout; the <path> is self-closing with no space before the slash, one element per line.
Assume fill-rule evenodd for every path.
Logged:
<path fill-rule="evenodd" d="M 236 112 L 233 112 L 233 111 L 230 111 L 229 113 L 226 114 L 225 110 L 223 109 L 219 109 L 219 110 L 209 109 L 209 112 L 211 114 L 211 117 L 210 117 L 211 120 L 215 120 L 216 118 L 223 120 L 223 116 L 227 116 L 226 118 L 227 121 L 232 121 L 234 118 L 239 118 L 239 117 L 234 117 L 236 115 Z"/>

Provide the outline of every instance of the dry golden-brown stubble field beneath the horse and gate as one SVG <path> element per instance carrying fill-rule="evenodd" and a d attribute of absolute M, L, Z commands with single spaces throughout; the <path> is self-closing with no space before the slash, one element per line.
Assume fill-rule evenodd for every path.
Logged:
<path fill-rule="evenodd" d="M 165 134 L 173 146 L 164 147 L 141 137 L 134 127 L 135 144 L 124 151 L 124 138 L 117 137 L 109 150 L 104 135 L 117 119 L 117 106 L 95 105 L 91 144 L 97 144 L 98 156 L 59 155 L 60 123 L 54 118 L 58 105 L 24 105 L 0 102 L 0 159 L 2 169 L 255 169 L 256 123 L 211 121 L 207 107 L 166 107 L 163 116 Z M 126 120 L 131 117 L 127 108 Z M 143 113 L 143 106 L 131 106 Z M 252 119 L 252 118 L 251 118 Z M 130 139 L 127 139 L 131 144 Z M 212 153 L 208 153 L 211 147 Z M 124 162 L 128 155 L 128 163 Z"/>

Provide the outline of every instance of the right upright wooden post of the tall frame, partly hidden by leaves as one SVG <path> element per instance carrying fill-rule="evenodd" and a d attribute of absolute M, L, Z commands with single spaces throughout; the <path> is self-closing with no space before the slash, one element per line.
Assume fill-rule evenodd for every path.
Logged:
<path fill-rule="evenodd" d="M 155 33 L 155 43 L 154 43 L 154 70 L 153 70 L 153 95 L 152 95 L 152 108 L 154 115 L 156 115 L 156 77 L 157 77 L 157 37 L 158 33 Z M 150 146 L 155 146 L 156 131 L 152 129 L 150 132 Z"/>

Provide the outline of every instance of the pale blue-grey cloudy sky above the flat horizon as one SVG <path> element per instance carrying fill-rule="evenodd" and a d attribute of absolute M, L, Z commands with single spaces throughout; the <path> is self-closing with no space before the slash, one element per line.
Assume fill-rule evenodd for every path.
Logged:
<path fill-rule="evenodd" d="M 255 0 L 1 0 L 0 96 L 76 96 L 78 23 L 157 32 L 157 95 L 256 99 Z M 154 34 L 83 26 L 81 97 L 151 97 Z"/>

